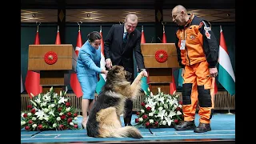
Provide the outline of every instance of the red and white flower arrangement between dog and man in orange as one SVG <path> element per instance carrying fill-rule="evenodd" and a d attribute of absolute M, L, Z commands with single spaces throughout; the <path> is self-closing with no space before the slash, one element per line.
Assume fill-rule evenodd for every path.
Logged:
<path fill-rule="evenodd" d="M 144 127 L 172 127 L 183 120 L 182 102 L 178 101 L 178 94 L 163 94 L 158 88 L 158 94 L 153 95 L 148 89 L 146 98 L 141 103 L 142 110 L 137 111 L 136 126 Z"/>

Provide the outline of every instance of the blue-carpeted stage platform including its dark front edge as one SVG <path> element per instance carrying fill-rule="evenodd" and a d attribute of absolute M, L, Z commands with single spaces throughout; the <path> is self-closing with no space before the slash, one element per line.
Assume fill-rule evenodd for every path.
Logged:
<path fill-rule="evenodd" d="M 132 124 L 137 116 L 133 115 Z M 198 114 L 195 122 L 198 126 Z M 121 118 L 123 121 L 123 118 Z M 79 126 L 82 117 L 78 118 Z M 150 129 L 139 128 L 143 138 L 90 138 L 86 130 L 49 130 L 49 131 L 25 131 L 21 130 L 22 143 L 235 143 L 235 114 L 214 114 L 211 122 L 211 131 L 206 133 L 194 133 L 193 130 L 177 131 L 174 128 Z"/>

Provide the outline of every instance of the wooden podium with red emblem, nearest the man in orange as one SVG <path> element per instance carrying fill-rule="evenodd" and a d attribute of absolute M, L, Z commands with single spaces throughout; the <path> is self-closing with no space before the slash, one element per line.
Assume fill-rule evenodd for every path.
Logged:
<path fill-rule="evenodd" d="M 148 85 L 153 94 L 158 94 L 158 87 L 165 94 L 170 94 L 172 69 L 180 67 L 174 43 L 141 44 L 144 64 L 148 70 Z"/>

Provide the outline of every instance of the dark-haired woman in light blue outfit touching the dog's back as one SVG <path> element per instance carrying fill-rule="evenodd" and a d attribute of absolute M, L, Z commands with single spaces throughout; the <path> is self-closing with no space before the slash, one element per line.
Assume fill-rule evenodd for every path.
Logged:
<path fill-rule="evenodd" d="M 79 50 L 77 60 L 78 81 L 82 87 L 82 127 L 86 127 L 87 112 L 94 105 L 94 94 L 98 82 L 98 74 L 107 74 L 100 68 L 101 35 L 93 31 L 87 35 L 88 40 Z"/>

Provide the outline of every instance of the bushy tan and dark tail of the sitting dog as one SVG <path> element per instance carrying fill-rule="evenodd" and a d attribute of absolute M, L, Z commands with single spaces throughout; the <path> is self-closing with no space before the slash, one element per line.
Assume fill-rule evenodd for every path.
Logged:
<path fill-rule="evenodd" d="M 114 133 L 112 133 L 111 136 L 115 138 L 122 138 L 122 137 L 143 138 L 142 134 L 134 126 L 120 127 Z"/>

